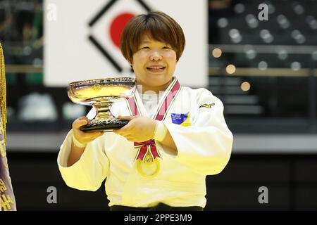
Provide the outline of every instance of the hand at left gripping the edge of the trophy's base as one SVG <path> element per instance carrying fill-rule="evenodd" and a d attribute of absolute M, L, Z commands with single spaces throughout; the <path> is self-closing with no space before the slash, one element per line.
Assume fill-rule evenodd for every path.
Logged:
<path fill-rule="evenodd" d="M 82 144 L 87 144 L 94 139 L 99 138 L 99 136 L 104 135 L 104 131 L 88 131 L 84 132 L 80 130 L 80 127 L 85 126 L 89 122 L 87 117 L 79 117 L 73 122 L 73 135 L 75 139 Z"/>

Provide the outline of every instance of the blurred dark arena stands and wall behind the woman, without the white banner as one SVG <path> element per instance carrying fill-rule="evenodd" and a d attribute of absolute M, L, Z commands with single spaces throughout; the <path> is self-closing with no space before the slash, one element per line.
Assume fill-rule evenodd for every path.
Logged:
<path fill-rule="evenodd" d="M 259 20 L 260 4 L 268 20 Z M 75 118 L 66 87 L 44 86 L 41 0 L 0 0 L 7 156 L 18 210 L 108 210 L 104 186 L 63 183 L 56 158 Z M 224 171 L 208 176 L 205 210 L 317 210 L 317 1 L 209 0 L 207 89 L 234 134 Z M 58 66 L 58 65 L 56 65 Z M 47 203 L 56 187 L 57 203 Z M 259 188 L 268 203 L 259 203 Z"/>

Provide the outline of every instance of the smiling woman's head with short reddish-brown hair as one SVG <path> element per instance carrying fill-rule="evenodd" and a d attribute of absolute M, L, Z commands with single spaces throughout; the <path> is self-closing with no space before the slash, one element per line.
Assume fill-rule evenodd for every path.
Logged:
<path fill-rule="evenodd" d="M 128 41 L 127 41 L 128 40 Z M 130 63 L 142 93 L 165 90 L 185 48 L 182 27 L 165 13 L 139 15 L 125 25 L 121 52 Z"/>

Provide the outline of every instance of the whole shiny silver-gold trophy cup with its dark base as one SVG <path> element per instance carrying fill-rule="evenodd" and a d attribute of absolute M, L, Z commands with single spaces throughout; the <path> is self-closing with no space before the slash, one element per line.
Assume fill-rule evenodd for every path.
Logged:
<path fill-rule="evenodd" d="M 110 132 L 128 124 L 128 121 L 114 117 L 110 108 L 116 98 L 132 96 L 135 88 L 136 82 L 132 77 L 88 79 L 68 84 L 68 97 L 73 103 L 92 105 L 97 112 L 94 119 L 80 129 Z"/>

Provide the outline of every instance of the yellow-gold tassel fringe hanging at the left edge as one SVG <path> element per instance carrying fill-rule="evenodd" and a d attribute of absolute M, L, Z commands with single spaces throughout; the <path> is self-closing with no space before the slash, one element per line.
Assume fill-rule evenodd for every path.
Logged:
<path fill-rule="evenodd" d="M 4 141 L 6 143 L 6 70 L 4 68 L 4 51 L 0 43 L 0 103 L 1 120 L 4 126 Z"/>

